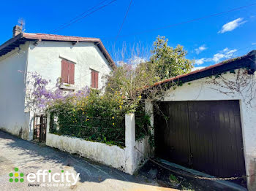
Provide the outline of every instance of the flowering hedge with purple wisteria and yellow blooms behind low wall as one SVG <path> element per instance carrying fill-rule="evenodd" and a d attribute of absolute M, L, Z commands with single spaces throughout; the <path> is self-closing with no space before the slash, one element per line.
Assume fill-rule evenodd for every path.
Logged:
<path fill-rule="evenodd" d="M 85 87 L 67 93 L 59 88 L 60 79 L 53 88 L 48 87 L 50 81 L 35 72 L 29 79 L 29 87 L 33 88 L 29 89 L 27 104 L 35 112 L 51 112 L 50 133 L 124 146 L 124 117 L 131 106 L 120 91 L 100 95 L 99 90 Z M 137 139 L 148 132 L 147 119 L 143 112 L 135 115 Z"/>

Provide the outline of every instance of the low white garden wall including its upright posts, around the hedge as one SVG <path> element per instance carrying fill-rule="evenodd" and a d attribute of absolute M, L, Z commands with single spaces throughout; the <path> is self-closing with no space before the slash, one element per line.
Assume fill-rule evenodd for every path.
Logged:
<path fill-rule="evenodd" d="M 150 155 L 148 137 L 135 141 L 134 114 L 126 115 L 126 133 L 124 148 L 108 145 L 72 136 L 59 136 L 49 133 L 50 114 L 48 114 L 46 145 L 72 154 L 78 154 L 90 160 L 118 168 L 128 174 L 133 174 L 140 164 Z M 138 151 L 140 150 L 140 152 Z"/>

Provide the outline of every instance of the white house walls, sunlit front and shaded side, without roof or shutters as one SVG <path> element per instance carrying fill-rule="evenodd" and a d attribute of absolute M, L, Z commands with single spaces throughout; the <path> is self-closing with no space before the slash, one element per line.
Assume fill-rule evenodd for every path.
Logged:
<path fill-rule="evenodd" d="M 105 85 L 102 77 L 112 70 L 97 45 L 91 42 L 79 42 L 75 46 L 71 42 L 39 42 L 37 46 L 26 42 L 20 45 L 20 51 L 16 48 L 0 58 L 0 128 L 23 139 L 32 139 L 34 112 L 24 109 L 24 81 L 28 78 L 18 70 L 37 71 L 50 79 L 48 87 L 54 89 L 56 79 L 61 77 L 61 57 L 75 61 L 76 90 L 90 87 L 90 69 L 99 71 L 99 89 Z"/>

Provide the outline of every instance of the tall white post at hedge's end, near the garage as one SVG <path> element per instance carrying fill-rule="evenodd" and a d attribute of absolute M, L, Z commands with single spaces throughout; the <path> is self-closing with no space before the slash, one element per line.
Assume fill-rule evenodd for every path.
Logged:
<path fill-rule="evenodd" d="M 125 114 L 125 159 L 126 172 L 135 171 L 135 114 Z"/>

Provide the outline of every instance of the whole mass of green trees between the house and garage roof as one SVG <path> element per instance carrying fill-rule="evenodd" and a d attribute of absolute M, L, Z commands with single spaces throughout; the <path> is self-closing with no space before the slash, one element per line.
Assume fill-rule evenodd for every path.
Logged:
<path fill-rule="evenodd" d="M 154 88 L 155 82 L 191 71 L 194 61 L 185 58 L 187 51 L 180 45 L 169 47 L 167 42 L 164 36 L 158 36 L 149 61 L 143 59 L 143 63 L 134 65 L 128 62 L 134 58 L 131 56 L 107 77 L 105 92 L 121 93 L 126 98 L 127 111 L 136 111 L 141 95 L 159 95 L 159 88 Z"/>

